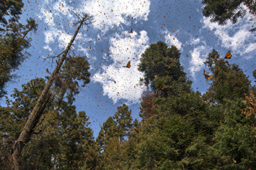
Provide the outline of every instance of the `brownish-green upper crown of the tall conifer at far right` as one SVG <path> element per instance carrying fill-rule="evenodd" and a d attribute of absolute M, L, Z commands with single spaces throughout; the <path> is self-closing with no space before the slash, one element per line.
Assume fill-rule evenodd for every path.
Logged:
<path fill-rule="evenodd" d="M 244 98 L 253 89 L 250 80 L 238 65 L 230 65 L 228 61 L 219 58 L 219 53 L 213 49 L 205 62 L 213 73 L 211 87 L 206 93 L 205 100 L 212 104 L 224 104 L 225 99 L 235 100 Z"/>

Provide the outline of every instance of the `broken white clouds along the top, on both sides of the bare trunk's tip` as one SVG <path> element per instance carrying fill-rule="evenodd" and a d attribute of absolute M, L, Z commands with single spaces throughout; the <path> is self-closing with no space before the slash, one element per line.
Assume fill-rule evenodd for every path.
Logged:
<path fill-rule="evenodd" d="M 97 1 L 90 0 L 85 4 L 77 1 L 77 8 L 74 9 L 74 3 L 67 3 L 64 0 L 45 1 L 40 6 L 40 14 L 37 16 L 47 24 L 45 32 L 45 49 L 52 51 L 53 47 L 50 44 L 58 42 L 58 48 L 66 47 L 71 39 L 74 30 L 75 16 L 71 13 L 74 11 L 77 14 L 89 13 L 94 16 L 93 26 L 97 29 L 109 29 L 110 27 L 119 26 L 121 23 L 129 25 L 131 19 L 133 21 L 147 20 L 149 15 L 150 1 L 148 0 L 133 0 L 133 1 Z M 134 22 L 133 22 L 134 23 Z M 87 39 L 86 34 L 80 35 L 83 39 Z M 88 41 L 88 39 L 87 39 Z M 56 46 L 56 44 L 54 44 Z"/>

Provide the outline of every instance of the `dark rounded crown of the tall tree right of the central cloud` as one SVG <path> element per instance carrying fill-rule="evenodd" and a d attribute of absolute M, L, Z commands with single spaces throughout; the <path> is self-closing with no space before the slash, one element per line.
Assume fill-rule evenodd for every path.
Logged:
<path fill-rule="evenodd" d="M 172 76 L 173 80 L 179 80 L 185 76 L 180 65 L 180 51 L 177 47 L 167 47 L 164 42 L 151 44 L 141 55 L 141 63 L 138 70 L 144 72 L 144 79 L 141 80 L 145 85 L 151 85 L 155 90 L 157 77 Z M 161 87 L 158 87 L 161 88 Z"/>

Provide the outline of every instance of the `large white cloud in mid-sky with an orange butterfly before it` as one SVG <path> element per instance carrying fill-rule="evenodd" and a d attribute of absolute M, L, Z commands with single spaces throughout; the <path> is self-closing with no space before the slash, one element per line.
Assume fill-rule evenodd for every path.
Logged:
<path fill-rule="evenodd" d="M 115 34 L 115 37 L 110 39 L 112 65 L 102 66 L 103 71 L 92 77 L 94 82 L 102 83 L 104 95 L 108 95 L 114 102 L 120 99 L 138 102 L 145 90 L 144 86 L 139 85 L 143 75 L 138 71 L 138 64 L 141 54 L 149 47 L 149 37 L 145 31 L 139 34 Z M 123 67 L 128 61 L 131 61 L 131 67 Z"/>

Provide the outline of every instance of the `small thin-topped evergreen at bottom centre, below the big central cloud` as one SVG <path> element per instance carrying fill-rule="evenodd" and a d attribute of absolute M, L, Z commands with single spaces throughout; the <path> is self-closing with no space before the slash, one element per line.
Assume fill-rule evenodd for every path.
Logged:
<path fill-rule="evenodd" d="M 97 138 L 101 148 L 99 169 L 129 169 L 133 166 L 139 127 L 138 120 L 132 123 L 127 105 L 118 107 L 113 118 L 103 123 Z"/>

